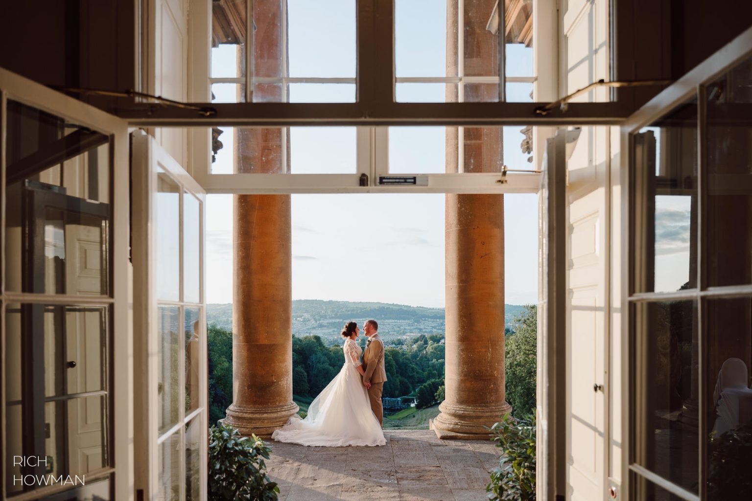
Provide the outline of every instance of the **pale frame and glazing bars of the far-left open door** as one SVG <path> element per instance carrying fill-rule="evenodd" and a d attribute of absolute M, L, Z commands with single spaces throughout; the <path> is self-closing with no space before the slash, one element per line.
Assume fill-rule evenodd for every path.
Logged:
<path fill-rule="evenodd" d="M 126 122 L 118 119 L 116 116 L 105 113 L 98 108 L 89 106 L 77 99 L 53 91 L 46 86 L 36 83 L 32 80 L 20 77 L 3 68 L 0 68 L 0 93 L 2 93 L 2 137 L 0 137 L 0 200 L 3 201 L 0 209 L 0 232 L 2 232 L 2 242 L 5 246 L 5 169 L 6 159 L 6 139 L 7 128 L 5 121 L 7 119 L 8 99 L 18 101 L 38 110 L 59 116 L 66 121 L 76 123 L 107 134 L 112 137 L 111 141 L 111 186 L 128 186 L 129 183 L 129 143 L 128 143 L 128 126 Z M 107 426 L 111 430 L 108 436 L 108 447 L 111 452 L 113 468 L 102 469 L 102 474 L 115 472 L 112 481 L 112 489 L 117 499 L 132 499 L 133 484 L 133 386 L 132 386 L 132 338 L 133 329 L 129 314 L 129 296 L 132 290 L 129 285 L 129 255 L 128 242 L 130 238 L 129 228 L 129 195 L 128 192 L 113 189 L 111 200 L 111 222 L 113 225 L 113 240 L 110 246 L 110 259 L 112 267 L 112 282 L 110 297 L 92 297 L 90 300 L 86 297 L 75 296 L 74 303 L 86 304 L 92 303 L 97 306 L 108 305 L 111 308 L 110 324 L 110 343 L 114 356 L 110 361 L 108 376 L 111 376 L 111 385 L 108 399 L 110 400 L 110 409 L 112 415 L 109 416 Z M 2 255 L 2 265 L 5 269 L 5 249 L 0 251 Z M 5 273 L 2 274 L 2 288 L 0 288 L 0 297 L 2 297 L 2 308 L 9 302 L 23 301 L 26 303 L 69 303 L 73 297 L 58 294 L 31 294 L 9 292 L 5 286 Z M 0 323 L 0 332 L 2 332 L 2 347 L 0 347 L 0 360 L 5 360 L 5 321 Z M 5 379 L 3 381 L 3 397 L 0 398 L 0 412 L 2 412 L 2 443 L 5 448 Z M 7 454 L 2 451 L 2 470 L 6 471 L 5 458 Z M 98 472 L 99 473 L 99 472 Z M 92 478 L 92 481 L 94 479 Z M 68 486 L 44 487 L 38 490 L 29 491 L 29 493 L 13 496 L 12 499 L 23 501 L 25 499 L 37 499 L 39 496 L 47 495 L 62 490 L 68 490 Z M 5 499 L 5 492 L 0 493 Z"/>

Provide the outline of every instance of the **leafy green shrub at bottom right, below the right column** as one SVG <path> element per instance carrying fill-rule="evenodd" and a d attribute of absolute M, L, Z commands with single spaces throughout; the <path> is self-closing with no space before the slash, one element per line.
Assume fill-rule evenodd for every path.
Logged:
<path fill-rule="evenodd" d="M 488 499 L 535 500 L 535 415 L 515 421 L 505 415 L 490 428 L 493 441 L 502 449 L 499 469 L 491 473 L 486 486 Z"/>

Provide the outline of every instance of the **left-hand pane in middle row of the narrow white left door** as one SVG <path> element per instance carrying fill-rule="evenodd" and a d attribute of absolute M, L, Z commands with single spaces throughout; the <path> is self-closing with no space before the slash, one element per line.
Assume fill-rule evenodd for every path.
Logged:
<path fill-rule="evenodd" d="M 159 306 L 157 336 L 159 339 L 159 433 L 165 433 L 180 421 L 180 309 Z"/>

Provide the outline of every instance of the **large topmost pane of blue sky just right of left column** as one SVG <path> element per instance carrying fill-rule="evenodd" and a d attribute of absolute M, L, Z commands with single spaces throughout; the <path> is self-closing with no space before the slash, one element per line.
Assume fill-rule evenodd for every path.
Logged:
<path fill-rule="evenodd" d="M 264 3 L 253 4 L 254 20 Z M 355 4 L 287 0 L 290 77 L 355 77 Z"/>

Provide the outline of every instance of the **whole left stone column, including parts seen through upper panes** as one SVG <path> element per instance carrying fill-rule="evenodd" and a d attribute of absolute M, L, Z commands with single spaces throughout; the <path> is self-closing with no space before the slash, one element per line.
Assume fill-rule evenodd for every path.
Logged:
<path fill-rule="evenodd" d="M 260 76 L 284 71 L 280 16 L 278 2 L 254 5 L 254 69 Z M 238 52 L 243 71 L 244 47 Z M 259 85 L 253 91 L 254 101 L 282 98 L 278 85 Z M 283 129 L 235 128 L 234 133 L 236 172 L 289 172 Z M 225 422 L 244 435 L 269 436 L 298 412 L 293 402 L 290 195 L 235 195 L 233 211 L 232 405 Z"/>

